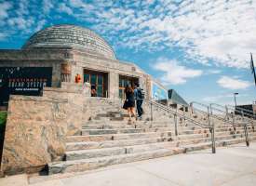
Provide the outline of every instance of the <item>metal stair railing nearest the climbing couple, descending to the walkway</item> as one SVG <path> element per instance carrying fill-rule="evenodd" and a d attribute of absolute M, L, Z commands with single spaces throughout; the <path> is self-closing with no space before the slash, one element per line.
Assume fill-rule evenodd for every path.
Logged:
<path fill-rule="evenodd" d="M 161 103 L 158 103 L 156 102 L 155 100 L 144 100 L 146 102 L 149 103 L 150 105 L 150 115 L 151 115 L 151 120 L 153 120 L 153 106 L 161 109 L 162 111 L 166 111 L 168 113 L 171 113 L 174 115 L 174 124 L 175 124 L 175 135 L 178 136 L 179 133 L 178 133 L 178 117 L 184 119 L 184 120 L 187 120 L 193 124 L 195 124 L 196 126 L 200 126 L 202 128 L 208 128 L 209 129 L 209 132 L 211 134 L 211 151 L 212 153 L 216 153 L 216 145 L 215 145 L 215 129 L 214 129 L 214 124 L 213 123 L 210 123 L 210 115 L 209 115 L 209 123 L 208 125 L 205 125 L 205 124 L 202 124 L 198 121 L 196 121 L 194 118 L 190 117 L 190 116 L 187 116 L 185 114 L 185 112 L 183 113 L 178 113 L 178 108 L 176 108 L 176 111 L 173 111 L 170 107 L 166 106 L 166 105 L 163 105 Z M 184 107 L 183 107 L 183 111 L 184 111 Z"/>

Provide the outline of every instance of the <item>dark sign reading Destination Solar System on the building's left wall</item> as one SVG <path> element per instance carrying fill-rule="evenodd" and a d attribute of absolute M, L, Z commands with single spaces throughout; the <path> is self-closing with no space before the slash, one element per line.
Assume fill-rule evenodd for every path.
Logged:
<path fill-rule="evenodd" d="M 51 86 L 52 67 L 0 67 L 0 105 L 9 95 L 39 96 Z"/>

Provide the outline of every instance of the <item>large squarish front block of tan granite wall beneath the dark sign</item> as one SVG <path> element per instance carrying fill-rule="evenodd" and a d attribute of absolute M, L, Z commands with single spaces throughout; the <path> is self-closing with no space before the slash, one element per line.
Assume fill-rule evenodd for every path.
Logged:
<path fill-rule="evenodd" d="M 1 171 L 34 172 L 63 158 L 67 100 L 11 96 Z"/>

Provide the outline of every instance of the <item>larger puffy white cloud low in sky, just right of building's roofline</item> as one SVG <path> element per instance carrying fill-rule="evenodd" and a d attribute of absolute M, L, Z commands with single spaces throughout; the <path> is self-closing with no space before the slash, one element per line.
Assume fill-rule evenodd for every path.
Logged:
<path fill-rule="evenodd" d="M 161 81 L 166 84 L 184 84 L 190 78 L 202 75 L 201 70 L 190 69 L 179 65 L 176 60 L 160 58 L 154 64 L 154 69 L 163 72 Z"/>

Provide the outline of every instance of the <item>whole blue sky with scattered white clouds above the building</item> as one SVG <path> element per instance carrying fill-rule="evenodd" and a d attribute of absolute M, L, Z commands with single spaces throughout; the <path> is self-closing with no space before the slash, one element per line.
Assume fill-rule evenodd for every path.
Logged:
<path fill-rule="evenodd" d="M 0 48 L 20 48 L 36 31 L 72 23 L 99 33 L 118 60 L 134 62 L 185 100 L 256 100 L 256 1 L 0 0 Z"/>

